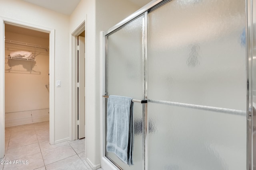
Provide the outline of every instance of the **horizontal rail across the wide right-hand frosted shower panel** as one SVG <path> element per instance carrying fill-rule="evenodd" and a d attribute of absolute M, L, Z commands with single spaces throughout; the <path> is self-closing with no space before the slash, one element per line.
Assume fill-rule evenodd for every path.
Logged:
<path fill-rule="evenodd" d="M 200 109 L 200 110 L 206 110 L 206 111 L 228 113 L 232 115 L 246 116 L 246 111 L 242 111 L 242 110 L 225 109 L 221 107 L 201 106 L 201 105 L 194 105 L 194 104 L 184 104 L 184 103 L 177 103 L 177 102 L 167 102 L 162 100 L 148 100 L 148 102 L 156 103 L 156 104 L 165 104 L 170 106 L 186 107 L 191 109 Z"/>

